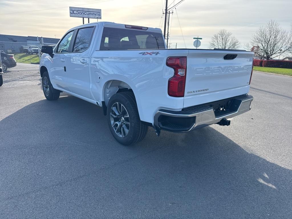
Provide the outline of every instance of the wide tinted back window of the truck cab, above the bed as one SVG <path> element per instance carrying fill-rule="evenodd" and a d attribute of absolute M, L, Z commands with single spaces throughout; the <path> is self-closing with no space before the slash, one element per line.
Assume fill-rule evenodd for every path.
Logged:
<path fill-rule="evenodd" d="M 104 27 L 100 50 L 165 49 L 161 33 Z"/>

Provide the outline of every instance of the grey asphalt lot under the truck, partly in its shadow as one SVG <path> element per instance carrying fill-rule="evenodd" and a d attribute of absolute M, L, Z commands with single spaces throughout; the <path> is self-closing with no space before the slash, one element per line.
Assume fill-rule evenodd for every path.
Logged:
<path fill-rule="evenodd" d="M 292 77 L 254 72 L 252 110 L 132 147 L 102 108 L 37 72 L 0 87 L 0 218 L 292 218 Z"/>

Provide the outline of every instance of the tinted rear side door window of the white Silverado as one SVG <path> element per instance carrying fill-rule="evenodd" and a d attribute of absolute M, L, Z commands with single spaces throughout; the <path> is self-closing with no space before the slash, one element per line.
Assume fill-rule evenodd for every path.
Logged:
<path fill-rule="evenodd" d="M 83 52 L 91 42 L 94 27 L 86 27 L 79 29 L 73 45 L 73 52 Z"/>

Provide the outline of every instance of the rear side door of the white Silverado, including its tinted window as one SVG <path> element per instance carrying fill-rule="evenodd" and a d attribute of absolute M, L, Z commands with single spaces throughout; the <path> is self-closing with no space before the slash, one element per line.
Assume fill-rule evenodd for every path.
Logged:
<path fill-rule="evenodd" d="M 70 91 L 88 99 L 91 99 L 89 78 L 89 56 L 91 50 L 89 46 L 94 29 L 95 26 L 76 30 L 72 53 L 70 53 L 66 60 Z"/>

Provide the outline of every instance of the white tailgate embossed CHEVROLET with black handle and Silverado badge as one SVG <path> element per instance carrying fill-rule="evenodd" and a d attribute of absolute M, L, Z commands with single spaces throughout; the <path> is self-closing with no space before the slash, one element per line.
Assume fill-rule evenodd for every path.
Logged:
<path fill-rule="evenodd" d="M 184 108 L 248 93 L 253 55 L 246 51 L 189 50 Z"/>

